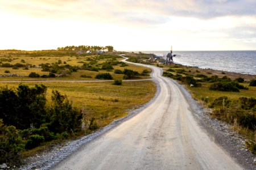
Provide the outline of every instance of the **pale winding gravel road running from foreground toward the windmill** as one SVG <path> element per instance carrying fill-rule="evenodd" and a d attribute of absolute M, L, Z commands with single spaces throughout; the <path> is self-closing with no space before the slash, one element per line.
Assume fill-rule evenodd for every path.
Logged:
<path fill-rule="evenodd" d="M 242 169 L 197 125 L 176 83 L 151 69 L 159 84 L 154 102 L 55 169 Z"/>

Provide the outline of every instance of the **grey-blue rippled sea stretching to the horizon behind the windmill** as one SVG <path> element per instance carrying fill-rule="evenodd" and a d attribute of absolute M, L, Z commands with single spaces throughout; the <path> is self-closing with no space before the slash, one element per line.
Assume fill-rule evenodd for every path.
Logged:
<path fill-rule="evenodd" d="M 145 51 L 166 56 L 170 51 Z M 174 51 L 174 63 L 201 69 L 231 71 L 256 75 L 256 51 Z"/>

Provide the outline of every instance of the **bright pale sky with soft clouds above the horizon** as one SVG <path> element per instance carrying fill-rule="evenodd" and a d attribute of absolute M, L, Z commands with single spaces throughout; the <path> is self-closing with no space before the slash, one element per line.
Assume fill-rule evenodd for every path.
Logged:
<path fill-rule="evenodd" d="M 0 49 L 256 50 L 255 0 L 0 0 Z"/>

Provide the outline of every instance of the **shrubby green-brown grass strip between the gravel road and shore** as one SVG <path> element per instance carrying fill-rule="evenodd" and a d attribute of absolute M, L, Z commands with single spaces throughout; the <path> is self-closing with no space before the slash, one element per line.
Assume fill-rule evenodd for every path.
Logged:
<path fill-rule="evenodd" d="M 180 70 L 183 70 L 182 73 Z M 212 109 L 210 116 L 232 124 L 234 130 L 248 139 L 246 145 L 255 154 L 256 88 L 253 86 L 255 79 L 249 79 L 247 75 L 242 74 L 237 77 L 237 74 L 223 75 L 214 70 L 209 71 L 171 65 L 166 68 L 163 75 L 184 83 L 196 100 Z M 253 78 L 253 75 L 251 77 Z"/>

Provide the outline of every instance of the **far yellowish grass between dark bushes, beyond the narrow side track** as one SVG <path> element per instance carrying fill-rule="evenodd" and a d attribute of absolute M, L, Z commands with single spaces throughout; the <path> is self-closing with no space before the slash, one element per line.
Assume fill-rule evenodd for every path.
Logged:
<path fill-rule="evenodd" d="M 48 56 L 48 57 L 28 57 L 28 56 L 8 56 L 7 54 L 0 53 L 0 61 L 2 63 L 10 63 L 11 65 L 15 65 L 16 63 L 21 63 L 23 65 L 30 65 L 28 66 L 28 70 L 24 70 L 24 67 L 20 67 L 18 69 L 13 69 L 12 67 L 0 67 L 0 75 L 10 75 L 16 74 L 18 76 L 0 76 L 0 80 L 52 80 L 53 78 L 29 78 L 28 75 L 31 72 L 35 72 L 39 75 L 48 75 L 48 71 L 42 71 L 42 68 L 39 66 L 41 64 L 48 64 L 54 65 L 57 64 L 59 61 L 59 66 L 64 65 L 71 65 L 81 67 L 84 63 L 90 63 L 90 59 L 96 60 L 97 63 L 95 64 L 97 67 L 101 67 L 102 63 L 113 61 L 112 58 L 103 58 L 103 59 L 96 59 L 100 55 L 88 55 L 88 56 L 63 56 L 63 57 L 55 57 L 55 56 Z M 10 59 L 10 60 L 9 60 Z M 122 58 L 117 58 L 117 60 L 121 60 Z M 8 61 L 9 60 L 9 61 Z M 23 62 L 22 62 L 23 61 Z M 31 67 L 34 66 L 34 67 Z M 113 70 L 99 70 L 96 71 L 89 71 L 89 70 L 77 70 L 77 72 L 72 72 L 71 75 L 61 76 L 58 78 L 54 78 L 56 80 L 95 80 L 95 76 L 99 73 L 110 73 L 113 76 L 113 79 L 123 79 L 123 75 L 114 74 L 115 69 L 124 70 L 124 69 L 131 69 L 134 71 L 138 71 L 138 73 L 142 73 L 143 70 L 146 68 L 135 66 L 129 64 L 128 66 L 121 67 L 119 65 L 113 65 Z M 5 73 L 8 70 L 10 73 Z M 67 70 L 67 69 L 66 69 Z M 148 69 L 148 71 L 150 71 Z M 82 78 L 81 75 L 88 75 L 91 78 Z M 140 76 L 141 79 L 148 78 L 148 76 Z"/>

